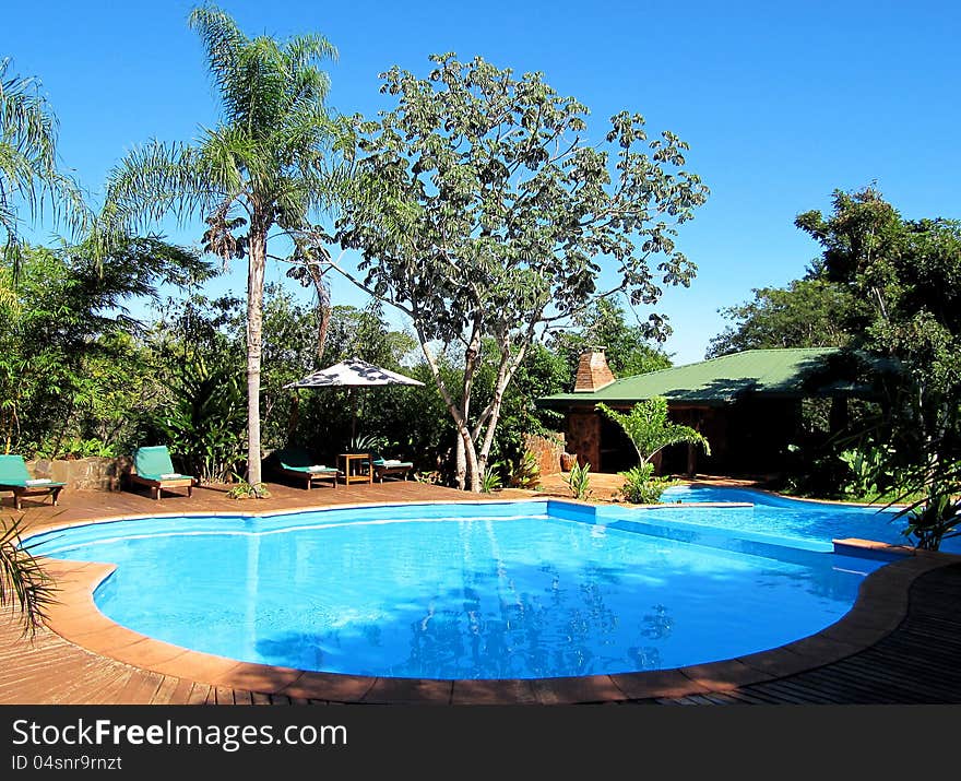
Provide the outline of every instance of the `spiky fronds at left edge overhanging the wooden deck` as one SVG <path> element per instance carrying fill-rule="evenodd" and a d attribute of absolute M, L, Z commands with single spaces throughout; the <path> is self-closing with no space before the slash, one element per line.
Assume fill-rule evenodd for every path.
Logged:
<path fill-rule="evenodd" d="M 24 637 L 33 637 L 56 602 L 56 585 L 21 542 L 22 519 L 0 521 L 0 607 L 19 612 Z"/>

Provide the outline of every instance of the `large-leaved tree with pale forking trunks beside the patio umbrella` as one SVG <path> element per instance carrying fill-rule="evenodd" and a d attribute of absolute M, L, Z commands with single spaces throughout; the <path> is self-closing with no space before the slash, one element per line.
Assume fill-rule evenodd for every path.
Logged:
<path fill-rule="evenodd" d="M 358 119 L 364 197 L 346 205 L 335 238 L 363 259 L 358 273 L 331 262 L 411 318 L 459 435 L 458 483 L 476 492 L 538 329 L 617 293 L 650 306 L 661 285 L 687 285 L 695 267 L 675 247 L 676 225 L 707 188 L 684 168 L 687 144 L 669 131 L 649 141 L 640 115 L 617 114 L 603 139 L 589 139 L 586 108 L 542 74 L 430 59 L 427 79 L 396 67 L 382 74 L 398 106 Z M 609 289 L 602 264 L 616 276 Z M 652 315 L 650 332 L 661 326 Z M 485 339 L 497 374 L 475 409 Z M 458 345 L 456 386 L 438 344 Z"/>

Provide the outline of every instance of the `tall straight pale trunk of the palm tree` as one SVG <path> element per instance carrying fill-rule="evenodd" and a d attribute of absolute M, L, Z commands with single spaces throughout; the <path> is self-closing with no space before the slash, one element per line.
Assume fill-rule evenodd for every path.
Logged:
<path fill-rule="evenodd" d="M 266 230 L 251 220 L 247 263 L 247 482 L 261 482 L 260 471 L 260 358 L 263 336 L 263 274 Z"/>

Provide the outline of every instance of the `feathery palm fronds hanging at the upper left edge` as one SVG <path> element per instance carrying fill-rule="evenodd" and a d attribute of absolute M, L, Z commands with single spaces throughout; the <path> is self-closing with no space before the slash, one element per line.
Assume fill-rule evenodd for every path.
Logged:
<path fill-rule="evenodd" d="M 16 272 L 19 206 L 36 218 L 49 203 L 55 218 L 67 217 L 76 232 L 90 215 L 76 181 L 57 165 L 57 118 L 39 94 L 39 82 L 10 71 L 10 58 L 0 60 L 0 238 L 3 260 Z"/>

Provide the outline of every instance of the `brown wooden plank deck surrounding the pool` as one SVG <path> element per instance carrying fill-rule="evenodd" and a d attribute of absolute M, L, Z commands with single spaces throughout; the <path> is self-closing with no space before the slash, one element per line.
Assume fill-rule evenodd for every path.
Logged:
<path fill-rule="evenodd" d="M 73 492 L 64 494 L 61 507 L 58 508 L 52 508 L 49 504 L 41 507 L 39 502 L 25 502 L 25 513 L 28 529 L 39 530 L 96 518 L 157 512 L 271 512 L 332 504 L 442 501 L 464 498 L 459 492 L 417 483 L 340 486 L 336 489 L 316 488 L 310 492 L 272 486 L 272 490 L 271 499 L 256 502 L 229 500 L 224 497 L 223 490 L 207 488 L 197 489 L 192 499 L 170 496 L 159 502 L 147 496 L 130 493 Z M 7 499 L 3 512 L 12 514 L 9 504 L 10 500 Z M 781 649 L 770 652 L 770 655 L 757 654 L 760 661 L 755 662 L 756 667 L 763 667 L 768 659 L 774 660 L 771 663 L 774 674 L 769 679 L 743 686 L 731 685 L 728 681 L 712 688 L 710 683 L 705 684 L 704 678 L 696 676 L 696 694 L 684 691 L 678 693 L 678 696 L 648 697 L 625 687 L 625 682 L 619 682 L 622 676 L 603 676 L 602 683 L 588 678 L 557 681 L 563 681 L 563 688 L 567 689 L 577 689 L 578 683 L 583 682 L 584 695 L 578 695 L 578 701 L 662 705 L 959 703 L 961 672 L 958 672 L 956 660 L 961 652 L 961 564 L 946 561 L 929 565 L 928 568 L 930 571 L 913 580 L 906 602 L 906 615 L 900 623 L 892 624 L 890 631 L 886 630 L 880 639 L 873 640 L 868 647 L 862 646 L 827 664 L 807 665 L 808 668 L 803 672 L 776 674 L 778 660 L 784 656 L 793 659 L 795 668 L 805 666 L 798 665 L 796 650 L 791 652 Z M 877 634 L 871 637 L 877 637 Z M 817 640 L 816 636 L 810 646 L 816 647 Z M 826 642 L 830 643 L 832 639 L 829 637 Z M 835 656 L 839 655 L 839 646 L 843 648 L 844 643 L 834 641 Z M 174 670 L 176 665 L 167 665 L 166 668 Z M 34 641 L 29 642 L 19 636 L 19 629 L 11 616 L 0 616 L 0 705 L 305 705 L 328 701 L 322 696 L 298 695 L 317 694 L 318 686 L 298 687 L 292 684 L 285 687 L 286 691 L 271 693 L 256 690 L 257 686 L 218 685 L 216 681 L 204 681 L 203 676 L 197 674 L 183 675 L 182 671 L 177 672 L 178 674 L 156 672 L 94 653 L 83 648 L 82 642 L 68 641 L 48 628 L 43 628 Z M 673 671 L 665 672 L 664 676 L 666 678 L 673 675 L 691 683 L 691 673 L 683 672 L 687 678 L 681 678 Z M 393 701 L 418 701 L 422 695 L 435 702 L 487 701 L 485 697 L 489 696 L 491 689 L 487 684 L 494 682 L 475 683 L 476 686 L 468 683 L 466 687 L 459 687 L 451 682 L 376 679 L 373 684 L 366 684 L 370 688 L 357 696 L 351 694 L 344 698 L 331 691 L 329 699 L 368 701 L 371 700 L 372 689 L 400 689 L 402 696 L 393 698 Z M 533 682 L 533 685 L 532 682 L 506 684 L 520 693 L 518 701 L 559 701 L 557 694 L 561 687 L 553 688 L 549 682 Z M 323 690 L 322 687 L 320 690 Z M 463 696 L 464 691 L 468 696 Z M 378 696 L 372 701 L 385 700 Z"/>

